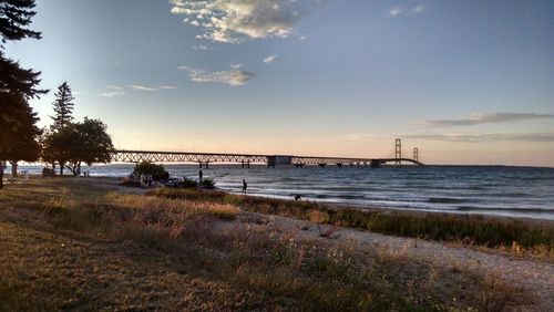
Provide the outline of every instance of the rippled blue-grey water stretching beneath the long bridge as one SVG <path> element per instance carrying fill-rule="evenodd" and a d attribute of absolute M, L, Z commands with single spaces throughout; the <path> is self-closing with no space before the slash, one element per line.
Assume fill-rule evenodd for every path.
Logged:
<path fill-rule="evenodd" d="M 164 165 L 172 177 L 198 178 L 198 166 Z M 91 176 L 126 177 L 134 165 L 84 167 Z M 19 171 L 40 174 L 42 166 L 23 165 Z M 10 168 L 7 169 L 9 173 Z M 510 166 L 406 166 L 401 168 L 341 168 L 337 166 L 252 165 L 250 168 L 211 165 L 204 178 L 216 187 L 240 193 L 243 179 L 254 196 L 357 206 L 360 209 L 399 209 L 492 215 L 554 220 L 554 168 Z"/>

